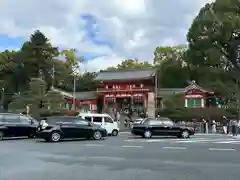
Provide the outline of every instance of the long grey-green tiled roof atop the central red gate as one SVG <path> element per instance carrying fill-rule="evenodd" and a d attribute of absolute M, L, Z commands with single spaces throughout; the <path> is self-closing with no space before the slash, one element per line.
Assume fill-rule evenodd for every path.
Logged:
<path fill-rule="evenodd" d="M 112 81 L 112 80 L 132 80 L 148 79 L 155 75 L 155 69 L 130 69 L 130 70 L 109 70 L 100 71 L 95 80 Z"/>

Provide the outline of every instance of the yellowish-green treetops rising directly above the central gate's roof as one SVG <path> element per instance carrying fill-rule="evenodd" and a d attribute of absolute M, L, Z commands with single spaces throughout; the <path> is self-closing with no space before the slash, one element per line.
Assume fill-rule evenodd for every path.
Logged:
<path fill-rule="evenodd" d="M 148 61 L 139 61 L 137 59 L 127 59 L 122 61 L 116 67 L 108 67 L 107 70 L 115 69 L 142 69 L 142 68 L 151 68 L 153 67 Z"/>

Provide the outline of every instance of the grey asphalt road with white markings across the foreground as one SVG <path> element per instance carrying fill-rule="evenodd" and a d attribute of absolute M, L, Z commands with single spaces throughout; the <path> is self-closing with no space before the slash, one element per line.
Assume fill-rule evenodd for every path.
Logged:
<path fill-rule="evenodd" d="M 188 140 L 121 134 L 101 141 L 0 142 L 0 180 L 240 179 L 240 138 Z"/>

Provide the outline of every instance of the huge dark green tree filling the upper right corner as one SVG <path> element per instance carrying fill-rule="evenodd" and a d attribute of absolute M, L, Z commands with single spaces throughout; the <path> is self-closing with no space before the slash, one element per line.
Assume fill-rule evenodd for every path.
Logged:
<path fill-rule="evenodd" d="M 235 108 L 236 114 L 240 107 L 240 66 L 234 43 L 240 38 L 239 12 L 237 0 L 206 4 L 189 29 L 186 53 L 195 80 L 229 99 L 227 106 Z"/>

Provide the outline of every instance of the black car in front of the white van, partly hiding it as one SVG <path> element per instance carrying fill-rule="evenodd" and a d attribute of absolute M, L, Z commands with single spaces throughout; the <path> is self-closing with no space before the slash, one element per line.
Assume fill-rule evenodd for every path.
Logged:
<path fill-rule="evenodd" d="M 87 138 L 100 140 L 107 136 L 107 131 L 98 125 L 80 117 L 51 117 L 40 122 L 36 138 L 59 142 L 64 138 Z"/>

